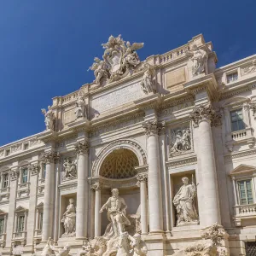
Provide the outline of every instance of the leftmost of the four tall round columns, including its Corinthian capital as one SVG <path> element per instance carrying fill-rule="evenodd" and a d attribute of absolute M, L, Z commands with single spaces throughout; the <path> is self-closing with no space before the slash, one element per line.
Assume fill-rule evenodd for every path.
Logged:
<path fill-rule="evenodd" d="M 53 212 L 54 212 L 54 194 L 55 194 L 55 162 L 60 156 L 56 152 L 44 154 L 45 183 L 44 183 L 44 215 L 42 227 L 42 241 L 47 241 L 52 236 L 53 230 Z"/>

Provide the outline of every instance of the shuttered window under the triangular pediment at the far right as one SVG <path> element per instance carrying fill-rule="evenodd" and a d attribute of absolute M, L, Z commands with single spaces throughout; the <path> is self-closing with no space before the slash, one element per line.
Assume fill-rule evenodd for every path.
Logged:
<path fill-rule="evenodd" d="M 238 189 L 240 196 L 241 205 L 253 204 L 253 191 L 252 191 L 252 180 L 242 180 L 238 181 Z"/>

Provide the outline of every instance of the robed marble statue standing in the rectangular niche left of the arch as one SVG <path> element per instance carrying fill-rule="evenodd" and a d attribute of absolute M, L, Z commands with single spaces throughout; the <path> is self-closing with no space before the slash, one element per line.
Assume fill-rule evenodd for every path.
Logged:
<path fill-rule="evenodd" d="M 64 225 L 64 236 L 75 236 L 76 229 L 76 208 L 74 206 L 73 198 L 69 199 L 69 205 L 67 211 L 63 213 L 61 223 Z"/>

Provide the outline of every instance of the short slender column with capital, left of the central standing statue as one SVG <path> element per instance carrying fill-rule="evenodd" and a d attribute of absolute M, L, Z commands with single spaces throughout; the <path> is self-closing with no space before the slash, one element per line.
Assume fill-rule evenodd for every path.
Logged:
<path fill-rule="evenodd" d="M 100 183 L 94 183 L 91 185 L 91 189 L 95 190 L 95 205 L 94 205 L 94 228 L 95 228 L 95 237 L 101 236 L 101 227 L 102 227 L 102 219 L 101 219 L 101 207 L 102 207 L 102 202 L 101 202 L 101 186 Z"/>

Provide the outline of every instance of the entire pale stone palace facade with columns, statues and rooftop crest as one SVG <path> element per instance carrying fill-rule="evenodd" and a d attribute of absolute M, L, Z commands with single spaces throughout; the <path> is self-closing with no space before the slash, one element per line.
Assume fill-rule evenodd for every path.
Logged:
<path fill-rule="evenodd" d="M 0 253 L 245 255 L 256 55 L 216 68 L 202 35 L 145 61 L 120 35 L 102 47 L 96 79 L 42 109 L 45 131 L 0 148 Z"/>

